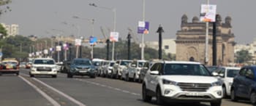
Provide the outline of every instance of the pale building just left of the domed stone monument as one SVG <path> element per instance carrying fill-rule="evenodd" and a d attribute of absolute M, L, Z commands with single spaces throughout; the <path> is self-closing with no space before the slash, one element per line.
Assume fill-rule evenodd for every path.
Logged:
<path fill-rule="evenodd" d="M 159 49 L 158 41 L 146 41 L 145 44 L 152 49 Z M 162 50 L 164 50 L 166 54 L 176 54 L 175 39 L 162 39 Z"/>

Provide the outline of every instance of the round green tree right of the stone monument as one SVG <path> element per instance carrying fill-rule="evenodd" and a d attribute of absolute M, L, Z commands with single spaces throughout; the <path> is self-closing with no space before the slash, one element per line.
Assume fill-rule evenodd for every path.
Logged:
<path fill-rule="evenodd" d="M 248 50 L 242 49 L 241 51 L 236 52 L 236 62 L 246 63 L 252 60 L 252 54 Z"/>

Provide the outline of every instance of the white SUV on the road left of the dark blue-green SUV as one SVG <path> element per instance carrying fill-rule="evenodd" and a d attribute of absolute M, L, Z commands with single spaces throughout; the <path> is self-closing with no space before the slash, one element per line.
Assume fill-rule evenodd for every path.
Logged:
<path fill-rule="evenodd" d="M 29 76 L 52 76 L 57 77 L 58 68 L 55 60 L 52 58 L 36 58 L 32 62 Z"/>

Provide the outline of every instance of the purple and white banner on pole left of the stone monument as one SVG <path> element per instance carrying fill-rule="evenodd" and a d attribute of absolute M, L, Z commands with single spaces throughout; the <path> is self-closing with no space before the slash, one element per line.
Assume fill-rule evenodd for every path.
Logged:
<path fill-rule="evenodd" d="M 148 34 L 148 30 L 149 30 L 149 22 L 139 21 L 139 23 L 138 23 L 138 33 Z"/>

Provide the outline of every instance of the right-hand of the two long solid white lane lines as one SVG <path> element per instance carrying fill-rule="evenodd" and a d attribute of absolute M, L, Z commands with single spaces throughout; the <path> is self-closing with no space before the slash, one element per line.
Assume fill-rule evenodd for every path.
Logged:
<path fill-rule="evenodd" d="M 24 76 L 27 76 L 27 75 L 24 74 Z M 44 85 L 44 86 L 47 86 L 49 89 L 51 89 L 51 90 L 53 90 L 53 91 L 56 91 L 58 94 L 61 94 L 61 96 L 66 97 L 67 99 L 69 99 L 70 101 L 74 102 L 75 104 L 77 104 L 77 105 L 79 105 L 79 106 L 86 106 L 86 105 L 84 105 L 82 102 L 79 102 L 78 100 L 76 100 L 76 99 L 70 97 L 69 95 L 64 94 L 62 91 L 59 91 L 59 90 L 53 88 L 52 86 L 49 86 L 48 84 L 46 84 L 46 83 L 44 83 L 44 82 L 42 82 L 42 81 L 39 81 L 37 78 L 33 78 L 33 79 L 34 79 L 34 81 L 37 81 L 37 82 L 41 83 L 41 84 Z"/>

